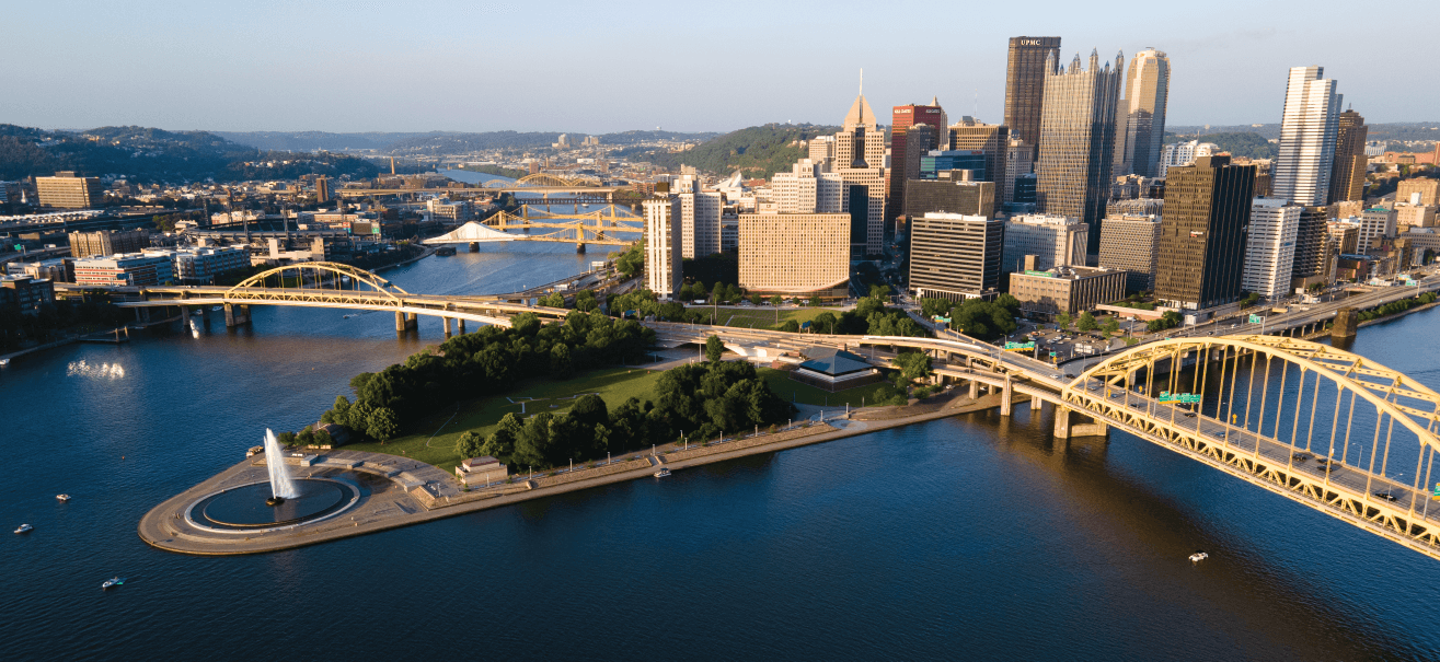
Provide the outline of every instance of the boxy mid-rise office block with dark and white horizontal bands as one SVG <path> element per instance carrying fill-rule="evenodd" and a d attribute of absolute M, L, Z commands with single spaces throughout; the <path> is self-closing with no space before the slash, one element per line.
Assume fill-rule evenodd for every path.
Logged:
<path fill-rule="evenodd" d="M 909 190 L 910 196 L 914 193 Z M 1004 248 L 1004 222 L 959 213 L 914 216 L 910 219 L 910 289 L 917 298 L 948 301 L 994 292 L 999 289 Z"/>

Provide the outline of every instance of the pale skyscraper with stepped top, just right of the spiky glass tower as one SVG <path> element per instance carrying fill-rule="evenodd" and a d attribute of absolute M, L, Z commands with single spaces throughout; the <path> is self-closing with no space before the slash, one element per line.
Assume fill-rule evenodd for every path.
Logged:
<path fill-rule="evenodd" d="M 1115 112 L 1115 174 L 1159 176 L 1168 98 L 1169 56 L 1155 49 L 1135 53 Z"/>

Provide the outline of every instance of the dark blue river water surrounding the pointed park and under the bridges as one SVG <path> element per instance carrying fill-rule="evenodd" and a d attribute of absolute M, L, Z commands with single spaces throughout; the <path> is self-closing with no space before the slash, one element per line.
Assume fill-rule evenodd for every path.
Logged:
<path fill-rule="evenodd" d="M 602 250 L 485 246 L 386 276 L 514 291 Z M 1437 322 L 1352 351 L 1440 387 Z M 1440 561 L 1123 433 L 1058 442 L 1048 409 L 276 554 L 140 541 L 145 511 L 266 426 L 439 338 L 428 318 L 396 340 L 390 315 L 256 308 L 243 330 L 215 315 L 0 370 L 0 525 L 36 527 L 0 538 L 3 658 L 1440 659 Z"/>

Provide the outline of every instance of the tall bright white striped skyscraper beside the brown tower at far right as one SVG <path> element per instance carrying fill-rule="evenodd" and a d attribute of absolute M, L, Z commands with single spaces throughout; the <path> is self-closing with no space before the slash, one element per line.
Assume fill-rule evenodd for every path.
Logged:
<path fill-rule="evenodd" d="M 1270 167 L 1273 197 L 1296 204 L 1325 204 L 1339 135 L 1341 95 L 1323 66 L 1295 66 L 1284 92 L 1280 154 Z"/>

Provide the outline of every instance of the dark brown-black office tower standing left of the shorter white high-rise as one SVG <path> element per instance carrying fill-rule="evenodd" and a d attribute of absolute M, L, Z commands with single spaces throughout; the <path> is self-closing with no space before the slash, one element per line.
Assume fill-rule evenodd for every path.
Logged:
<path fill-rule="evenodd" d="M 1200 157 L 1169 170 L 1155 296 L 1185 309 L 1240 298 L 1256 167 Z"/>

